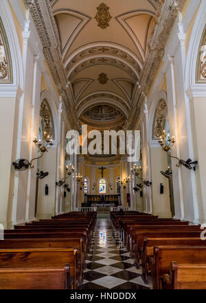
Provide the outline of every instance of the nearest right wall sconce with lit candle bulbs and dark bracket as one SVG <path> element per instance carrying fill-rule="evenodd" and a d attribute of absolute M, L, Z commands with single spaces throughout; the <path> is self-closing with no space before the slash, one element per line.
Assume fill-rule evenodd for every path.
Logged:
<path fill-rule="evenodd" d="M 186 169 L 192 169 L 192 167 L 193 167 L 193 169 L 195 171 L 198 161 L 192 161 L 191 159 L 187 159 L 185 161 L 185 160 L 182 160 L 182 159 L 179 159 L 177 157 L 170 155 L 169 151 L 172 150 L 172 146 L 174 145 L 175 142 L 176 141 L 174 141 L 174 136 L 172 136 L 172 139 L 171 139 L 170 134 L 168 134 L 168 135 L 165 134 L 165 130 L 163 131 L 162 136 L 159 137 L 159 145 L 161 146 L 163 151 L 165 151 L 170 158 L 174 158 L 174 159 L 178 160 L 176 167 L 181 167 L 181 165 L 186 167 Z"/>

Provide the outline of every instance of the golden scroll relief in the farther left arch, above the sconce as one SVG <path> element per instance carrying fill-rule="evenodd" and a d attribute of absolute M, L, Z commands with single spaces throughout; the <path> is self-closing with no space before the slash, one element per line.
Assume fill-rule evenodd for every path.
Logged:
<path fill-rule="evenodd" d="M 43 133 L 46 132 L 47 136 L 54 140 L 54 120 L 52 117 L 52 110 L 45 99 L 41 102 L 40 116 L 42 118 Z"/>

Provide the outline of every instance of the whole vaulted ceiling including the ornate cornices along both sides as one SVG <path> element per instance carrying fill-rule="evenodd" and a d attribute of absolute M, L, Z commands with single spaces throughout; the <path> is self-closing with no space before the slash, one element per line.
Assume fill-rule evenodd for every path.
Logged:
<path fill-rule="evenodd" d="M 120 112 L 122 124 L 130 127 L 161 62 L 175 1 L 24 1 L 73 124 L 104 105 Z M 115 127 L 115 120 L 108 125 L 112 122 Z"/>

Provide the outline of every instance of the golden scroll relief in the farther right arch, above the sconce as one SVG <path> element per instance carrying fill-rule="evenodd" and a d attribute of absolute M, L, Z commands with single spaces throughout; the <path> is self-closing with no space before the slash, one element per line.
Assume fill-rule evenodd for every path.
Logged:
<path fill-rule="evenodd" d="M 165 126 L 165 117 L 167 116 L 167 112 L 168 112 L 168 106 L 165 100 L 161 99 L 159 101 L 159 104 L 157 105 L 157 109 L 155 112 L 152 139 L 159 138 L 163 133 L 163 129 Z"/>

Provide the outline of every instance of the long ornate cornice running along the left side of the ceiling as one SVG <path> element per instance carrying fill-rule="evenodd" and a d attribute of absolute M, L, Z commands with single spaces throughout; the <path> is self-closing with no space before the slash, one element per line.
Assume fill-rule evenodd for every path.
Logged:
<path fill-rule="evenodd" d="M 60 61 L 58 29 L 56 27 L 50 2 L 49 0 L 35 0 L 32 3 L 30 0 L 23 1 L 26 8 L 30 10 L 36 30 L 41 38 L 45 60 L 52 73 L 58 92 L 62 95 L 62 100 L 64 101 L 67 110 L 67 117 L 71 121 L 71 125 L 75 127 L 74 125 L 76 125 L 78 118 L 71 91 L 65 89 L 67 86 L 67 77 L 62 62 Z"/>

